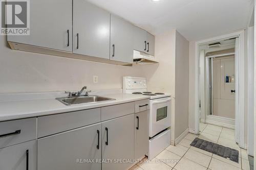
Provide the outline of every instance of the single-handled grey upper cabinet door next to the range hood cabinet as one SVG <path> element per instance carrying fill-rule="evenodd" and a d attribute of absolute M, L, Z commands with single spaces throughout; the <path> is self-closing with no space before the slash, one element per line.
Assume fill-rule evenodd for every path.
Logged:
<path fill-rule="evenodd" d="M 133 63 L 134 26 L 122 18 L 111 14 L 110 59 Z"/>

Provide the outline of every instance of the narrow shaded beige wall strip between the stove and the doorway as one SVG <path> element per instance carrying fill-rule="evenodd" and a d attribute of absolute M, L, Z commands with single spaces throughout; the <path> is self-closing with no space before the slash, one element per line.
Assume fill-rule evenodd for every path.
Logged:
<path fill-rule="evenodd" d="M 188 129 L 189 42 L 176 31 L 175 138 Z"/>

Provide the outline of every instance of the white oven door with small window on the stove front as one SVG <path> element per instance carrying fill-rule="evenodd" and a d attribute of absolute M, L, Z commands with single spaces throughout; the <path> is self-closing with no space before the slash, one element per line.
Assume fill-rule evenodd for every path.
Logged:
<path fill-rule="evenodd" d="M 150 137 L 170 127 L 171 98 L 150 100 Z"/>

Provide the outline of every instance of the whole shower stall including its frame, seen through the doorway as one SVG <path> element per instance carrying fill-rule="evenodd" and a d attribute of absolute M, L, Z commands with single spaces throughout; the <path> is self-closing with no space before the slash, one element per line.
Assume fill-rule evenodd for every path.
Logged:
<path fill-rule="evenodd" d="M 216 51 L 205 55 L 205 104 L 204 122 L 210 122 L 212 116 L 222 119 L 220 126 L 234 129 L 235 118 L 235 71 L 234 48 Z M 201 99 L 200 99 L 201 100 Z M 225 119 L 229 119 L 227 122 Z M 222 124 L 221 124 L 222 123 Z"/>

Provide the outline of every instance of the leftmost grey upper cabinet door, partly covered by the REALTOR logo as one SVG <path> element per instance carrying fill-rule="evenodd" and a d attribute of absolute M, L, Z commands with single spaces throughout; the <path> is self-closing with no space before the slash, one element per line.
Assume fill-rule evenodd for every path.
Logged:
<path fill-rule="evenodd" d="M 72 52 L 72 0 L 29 2 L 30 35 L 10 35 L 7 40 Z"/>

